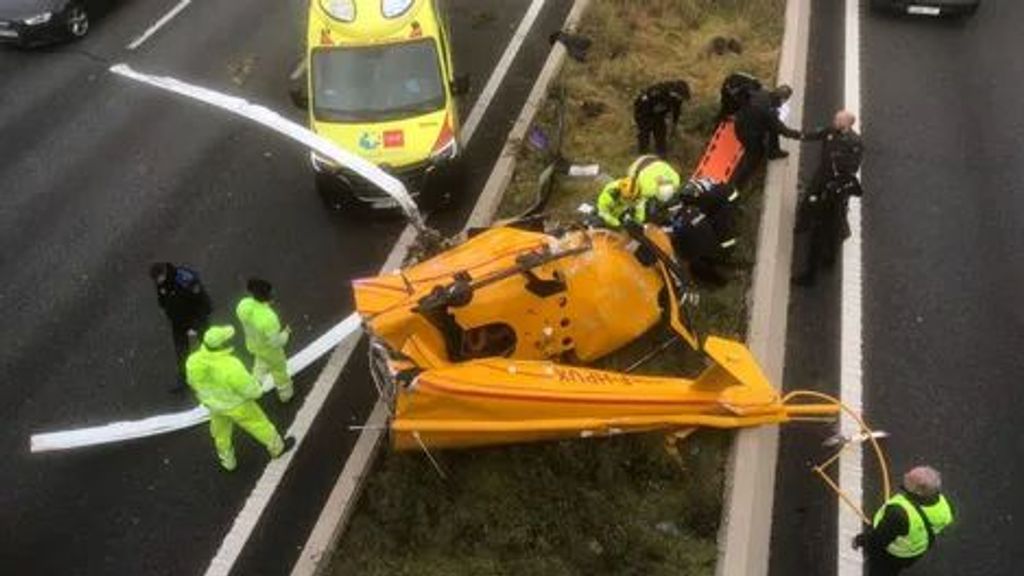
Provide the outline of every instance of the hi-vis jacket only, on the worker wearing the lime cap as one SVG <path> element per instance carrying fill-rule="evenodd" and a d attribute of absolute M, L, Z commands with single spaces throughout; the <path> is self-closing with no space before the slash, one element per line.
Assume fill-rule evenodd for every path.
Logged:
<path fill-rule="evenodd" d="M 200 404 L 212 413 L 238 408 L 263 394 L 230 347 L 210 349 L 201 345 L 185 361 L 185 378 Z"/>

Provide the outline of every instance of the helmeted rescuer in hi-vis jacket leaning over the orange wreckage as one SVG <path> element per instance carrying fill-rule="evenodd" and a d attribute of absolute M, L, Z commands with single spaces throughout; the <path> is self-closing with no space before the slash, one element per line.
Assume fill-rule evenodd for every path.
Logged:
<path fill-rule="evenodd" d="M 656 202 L 668 203 L 679 190 L 679 172 L 656 156 L 641 156 L 625 178 L 608 182 L 597 197 L 597 215 L 608 228 L 624 219 L 646 222 Z"/>

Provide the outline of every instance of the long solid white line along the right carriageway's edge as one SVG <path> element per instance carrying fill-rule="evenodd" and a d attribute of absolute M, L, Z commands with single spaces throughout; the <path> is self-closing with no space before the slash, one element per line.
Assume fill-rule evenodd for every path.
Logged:
<path fill-rule="evenodd" d="M 860 118 L 860 0 L 846 0 L 846 70 L 844 108 Z M 864 122 L 860 119 L 860 132 Z M 863 401 L 862 349 L 862 262 L 860 199 L 850 199 L 850 238 L 843 245 L 843 289 L 841 306 L 840 399 L 857 413 Z M 843 418 L 840 433 L 853 437 L 860 430 L 856 422 Z M 858 507 L 863 506 L 863 450 L 855 444 L 843 453 L 839 462 L 839 485 Z M 861 576 L 863 557 L 850 546 L 863 529 L 863 521 L 846 506 L 839 507 L 839 576 Z"/>

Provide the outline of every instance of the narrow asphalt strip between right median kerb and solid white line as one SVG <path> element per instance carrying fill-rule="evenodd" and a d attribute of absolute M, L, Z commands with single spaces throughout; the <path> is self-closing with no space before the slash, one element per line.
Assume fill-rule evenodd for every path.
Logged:
<path fill-rule="evenodd" d="M 811 5 L 811 35 L 804 128 L 826 123 L 843 106 L 844 26 L 843 2 Z M 813 177 L 821 145 L 801 149 L 800 179 Z M 794 274 L 807 257 L 808 234 L 794 238 Z M 814 287 L 793 286 L 786 324 L 785 368 L 782 387 L 839 393 L 840 277 L 838 266 L 823 271 Z M 821 441 L 831 427 L 818 423 L 782 427 L 775 475 L 769 574 L 829 576 L 836 572 L 837 501 L 811 466 L 825 452 Z"/>

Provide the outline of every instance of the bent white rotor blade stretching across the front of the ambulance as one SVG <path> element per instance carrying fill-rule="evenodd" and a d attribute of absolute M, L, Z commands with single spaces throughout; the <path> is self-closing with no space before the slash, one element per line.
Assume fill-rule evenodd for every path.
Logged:
<path fill-rule="evenodd" d="M 136 72 L 126 64 L 114 65 L 110 70 L 119 76 L 130 78 L 151 86 L 156 86 L 157 88 L 162 88 L 164 90 L 217 107 L 237 116 L 248 118 L 276 131 L 280 134 L 302 143 L 309 150 L 315 152 L 324 158 L 327 158 L 338 166 L 344 166 L 379 187 L 398 203 L 398 206 L 400 206 L 402 211 L 406 212 L 406 215 L 409 217 L 414 227 L 418 230 L 423 229 L 423 217 L 420 214 L 420 209 L 417 207 L 416 202 L 413 201 L 413 197 L 410 196 L 409 190 L 406 189 L 406 184 L 401 183 L 399 179 L 388 174 L 384 170 L 381 170 L 373 162 L 369 162 L 342 149 L 338 145 L 319 136 L 305 126 L 296 124 L 268 108 L 254 105 L 238 96 L 231 96 L 229 94 L 217 92 L 216 90 L 188 84 L 168 76 L 153 76 Z"/>

